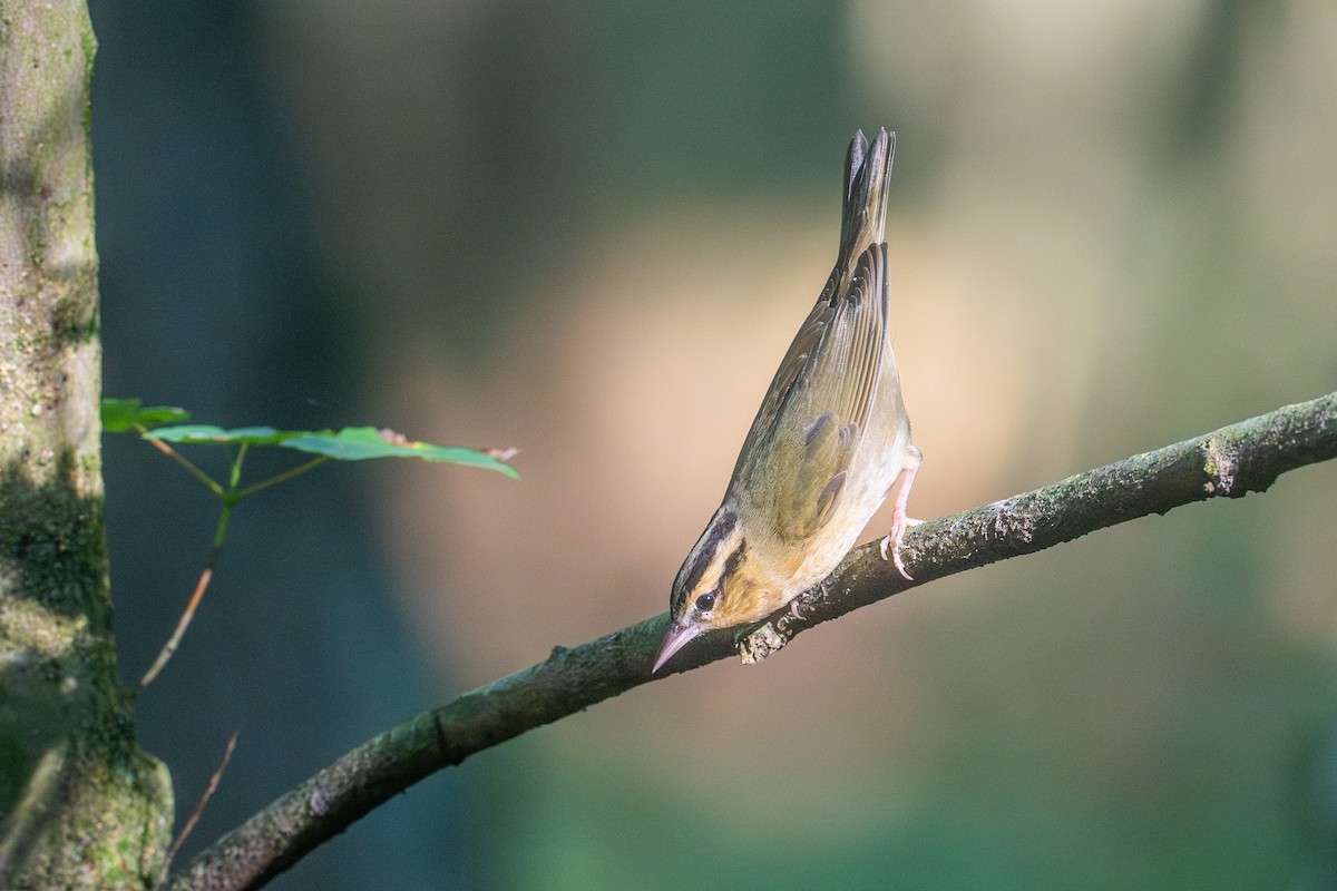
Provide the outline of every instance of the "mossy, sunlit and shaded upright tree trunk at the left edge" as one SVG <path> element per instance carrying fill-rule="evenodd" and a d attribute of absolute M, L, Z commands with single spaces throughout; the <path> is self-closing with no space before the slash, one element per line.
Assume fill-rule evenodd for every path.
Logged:
<path fill-rule="evenodd" d="M 0 887 L 146 888 L 166 768 L 116 676 L 83 0 L 0 0 Z"/>

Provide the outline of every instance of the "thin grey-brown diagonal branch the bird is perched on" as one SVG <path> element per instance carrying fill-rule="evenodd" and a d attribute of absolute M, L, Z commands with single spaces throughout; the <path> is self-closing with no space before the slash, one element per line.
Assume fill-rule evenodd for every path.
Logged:
<path fill-rule="evenodd" d="M 1337 457 L 1337 393 L 1215 433 L 1087 470 L 1025 494 L 916 526 L 900 577 L 876 542 L 853 550 L 821 585 L 741 641 L 757 661 L 797 635 L 935 578 L 1034 553 L 1151 513 L 1262 492 L 1286 470 Z M 694 641 L 650 675 L 667 616 L 571 649 L 394 727 L 285 793 L 201 854 L 171 888 L 258 888 L 390 796 L 469 755 L 667 673 L 734 652 L 734 636 Z"/>

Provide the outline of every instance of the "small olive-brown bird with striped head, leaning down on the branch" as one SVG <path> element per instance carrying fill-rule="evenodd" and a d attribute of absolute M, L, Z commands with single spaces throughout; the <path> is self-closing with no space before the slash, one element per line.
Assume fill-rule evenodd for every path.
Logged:
<path fill-rule="evenodd" d="M 886 187 L 896 134 L 854 134 L 840 252 L 762 399 L 719 509 L 678 570 L 651 673 L 707 631 L 759 621 L 825 578 L 904 473 L 881 554 L 900 546 L 924 456 L 892 354 Z"/>

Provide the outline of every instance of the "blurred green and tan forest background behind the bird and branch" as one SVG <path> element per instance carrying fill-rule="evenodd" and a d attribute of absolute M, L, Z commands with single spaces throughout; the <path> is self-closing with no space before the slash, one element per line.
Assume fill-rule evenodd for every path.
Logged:
<path fill-rule="evenodd" d="M 520 446 L 247 501 L 139 707 L 189 858 L 667 606 L 898 132 L 937 517 L 1337 386 L 1322 3 L 94 0 L 106 389 Z M 123 673 L 214 506 L 107 441 Z M 949 578 L 431 777 L 278 888 L 1337 887 L 1337 466 Z M 874 520 L 866 538 L 888 526 Z"/>

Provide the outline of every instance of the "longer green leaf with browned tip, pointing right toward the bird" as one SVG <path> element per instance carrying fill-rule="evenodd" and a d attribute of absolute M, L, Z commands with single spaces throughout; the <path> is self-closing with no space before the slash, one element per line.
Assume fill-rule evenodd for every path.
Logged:
<path fill-rule="evenodd" d="M 338 461 L 365 461 L 368 458 L 417 458 L 420 461 L 463 464 L 485 468 L 519 478 L 515 468 L 485 452 L 464 446 L 444 446 L 435 442 L 413 442 L 393 431 L 376 427 L 344 427 L 342 430 L 275 430 L 274 427 L 238 427 L 225 430 L 209 423 L 187 423 L 159 427 L 144 434 L 146 439 L 166 439 L 201 445 L 277 445 L 310 454 L 321 454 Z"/>

